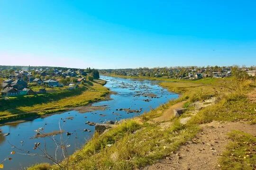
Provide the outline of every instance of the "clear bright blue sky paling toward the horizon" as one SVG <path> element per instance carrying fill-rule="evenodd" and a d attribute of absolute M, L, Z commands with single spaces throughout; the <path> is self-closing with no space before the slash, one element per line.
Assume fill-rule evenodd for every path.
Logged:
<path fill-rule="evenodd" d="M 0 0 L 0 65 L 256 65 L 256 0 Z"/>

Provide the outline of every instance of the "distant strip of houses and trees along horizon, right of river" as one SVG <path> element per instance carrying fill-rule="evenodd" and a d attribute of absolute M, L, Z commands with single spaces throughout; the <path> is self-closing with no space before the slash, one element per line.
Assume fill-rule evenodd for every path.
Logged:
<path fill-rule="evenodd" d="M 119 76 L 151 76 L 178 79 L 200 79 L 204 77 L 223 78 L 232 75 L 234 67 L 173 67 L 173 68 L 128 68 L 128 69 L 102 69 L 102 74 L 114 74 Z M 249 76 L 256 75 L 256 68 L 239 68 Z"/>

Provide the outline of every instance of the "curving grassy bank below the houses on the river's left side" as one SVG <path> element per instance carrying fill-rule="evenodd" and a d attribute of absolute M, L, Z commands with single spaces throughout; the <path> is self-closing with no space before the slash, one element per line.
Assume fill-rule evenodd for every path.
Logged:
<path fill-rule="evenodd" d="M 103 86 L 105 83 L 103 80 L 94 80 L 74 90 L 66 89 L 55 93 L 10 97 L 9 100 L 1 99 L 0 123 L 35 118 L 103 100 L 110 93 Z"/>

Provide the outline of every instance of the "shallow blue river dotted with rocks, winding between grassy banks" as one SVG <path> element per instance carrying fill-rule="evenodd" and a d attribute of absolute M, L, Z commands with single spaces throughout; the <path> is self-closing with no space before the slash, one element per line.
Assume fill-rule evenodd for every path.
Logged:
<path fill-rule="evenodd" d="M 110 76 L 101 76 L 101 79 L 107 80 L 108 83 L 105 86 L 112 92 L 116 92 L 110 96 L 111 100 L 93 104 L 94 106 L 105 106 L 104 110 L 94 110 L 86 113 L 72 110 L 51 115 L 46 118 L 0 126 L 2 130 L 0 133 L 0 162 L 9 156 L 10 152 L 16 151 L 16 154 L 11 155 L 12 160 L 3 162 L 4 169 L 24 170 L 26 167 L 35 163 L 49 162 L 46 158 L 40 156 L 19 154 L 40 153 L 38 149 L 33 149 L 35 143 L 40 142 L 42 148 L 44 148 L 44 144 L 46 143 L 47 153 L 55 155 L 55 143 L 48 137 L 31 138 L 37 134 L 35 130 L 40 127 L 44 127 L 45 133 L 48 133 L 59 130 L 60 122 L 61 127 L 63 127 L 65 131 L 65 133 L 63 133 L 64 140 L 66 144 L 70 144 L 68 153 L 72 154 L 93 136 L 94 126 L 85 124 L 86 121 L 105 123 L 108 120 L 119 121 L 121 119 L 128 119 L 139 116 L 143 112 L 154 109 L 169 100 L 178 98 L 178 94 L 168 92 L 154 81 Z M 151 97 L 146 96 L 148 94 L 150 94 Z M 152 94 L 155 94 L 155 97 L 152 98 Z M 145 101 L 147 99 L 148 101 Z M 128 108 L 141 111 L 139 113 L 127 113 L 125 110 L 117 110 Z M 84 132 L 83 129 L 89 129 L 91 132 Z M 67 136 L 66 132 L 70 132 L 72 135 Z M 10 133 L 9 136 L 3 136 L 3 134 L 6 133 Z M 56 135 L 55 138 L 59 140 L 60 135 Z M 14 148 L 12 145 L 20 150 Z"/>

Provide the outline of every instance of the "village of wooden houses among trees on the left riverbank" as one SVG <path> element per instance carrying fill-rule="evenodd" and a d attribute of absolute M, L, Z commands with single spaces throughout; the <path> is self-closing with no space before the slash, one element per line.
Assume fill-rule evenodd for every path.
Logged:
<path fill-rule="evenodd" d="M 98 79 L 96 69 L 0 66 L 1 96 L 35 95 L 52 89 L 73 90 L 79 84 Z"/>

